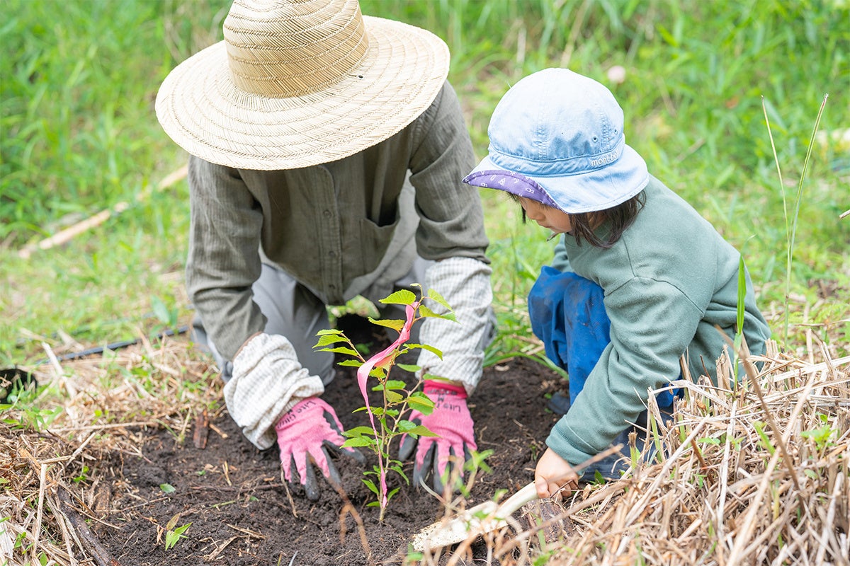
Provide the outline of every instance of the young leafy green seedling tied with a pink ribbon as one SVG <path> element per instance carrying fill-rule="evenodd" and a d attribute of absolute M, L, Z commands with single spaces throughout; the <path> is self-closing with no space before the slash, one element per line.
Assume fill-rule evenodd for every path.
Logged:
<path fill-rule="evenodd" d="M 421 286 L 415 286 L 421 289 Z M 438 314 L 423 305 L 422 302 L 426 298 L 442 306 L 446 311 L 445 314 Z M 354 360 L 342 361 L 340 365 L 358 367 L 357 381 L 365 403 L 365 406 L 358 409 L 358 411 L 365 410 L 369 414 L 371 427 L 355 427 L 354 429 L 345 431 L 344 434 L 348 437 L 348 440 L 345 441 L 343 447 L 365 447 L 377 455 L 377 466 L 372 470 L 364 472 L 364 475 L 367 477 L 363 479 L 363 483 L 377 496 L 377 502 L 373 502 L 370 505 L 381 507 L 379 520 L 382 521 L 389 499 L 399 490 L 399 488 L 396 488 L 388 491 L 388 472 L 395 472 L 405 482 L 410 483 L 402 471 L 401 462 L 394 460 L 389 455 L 391 442 L 402 434 L 413 434 L 415 436 L 437 435 L 421 424 L 417 425 L 404 418 L 405 413 L 414 409 L 422 412 L 423 415 L 429 415 L 433 412 L 433 401 L 428 399 L 428 395 L 425 395 L 422 391 L 416 390 L 422 383 L 424 375 L 411 389 L 406 389 L 405 382 L 390 379 L 389 372 L 395 365 L 412 373 L 421 371 L 421 367 L 396 364 L 396 358 L 398 356 L 406 354 L 411 350 L 428 350 L 435 356 L 442 358 L 443 353 L 433 346 L 407 343 L 411 339 L 411 328 L 413 328 L 416 322 L 428 317 L 443 318 L 450 321 L 456 321 L 456 319 L 445 299 L 433 289 L 428 290 L 428 297 L 420 294 L 419 298 L 416 298 L 416 294 L 413 292 L 402 289 L 390 294 L 387 298 L 380 300 L 380 302 L 384 305 L 404 305 L 405 307 L 405 320 L 376 320 L 369 317 L 369 321 L 373 324 L 393 328 L 398 331 L 399 337 L 391 345 L 388 345 L 387 348 L 367 360 L 354 347 L 351 340 L 341 330 L 337 329 L 320 331 L 318 333 L 319 342 L 314 348 L 318 348 L 320 351 L 347 354 L 355 358 Z M 340 343 L 345 345 L 338 345 Z M 377 378 L 377 385 L 371 389 L 373 391 L 381 391 L 382 406 L 370 406 L 369 404 L 369 397 L 366 393 L 366 382 L 370 377 Z M 377 485 L 368 478 L 369 475 L 377 476 Z"/>

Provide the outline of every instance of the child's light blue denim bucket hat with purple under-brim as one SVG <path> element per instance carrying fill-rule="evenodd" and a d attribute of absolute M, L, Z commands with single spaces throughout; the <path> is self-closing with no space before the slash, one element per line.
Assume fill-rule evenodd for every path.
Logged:
<path fill-rule="evenodd" d="M 497 188 L 568 214 L 605 210 L 649 182 L 626 145 L 623 110 L 597 81 L 567 69 L 526 76 L 501 98 L 489 154 L 463 182 Z"/>

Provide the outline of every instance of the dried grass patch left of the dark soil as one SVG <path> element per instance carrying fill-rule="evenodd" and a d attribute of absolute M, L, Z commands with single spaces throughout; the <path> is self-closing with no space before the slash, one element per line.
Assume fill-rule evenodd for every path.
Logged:
<path fill-rule="evenodd" d="M 191 416 L 217 405 L 218 379 L 172 340 L 64 365 L 45 349 L 51 363 L 32 369 L 46 387 L 0 422 L 0 564 L 112 566 L 86 525 L 104 493 L 88 468 L 138 453 L 148 428 L 184 435 Z"/>

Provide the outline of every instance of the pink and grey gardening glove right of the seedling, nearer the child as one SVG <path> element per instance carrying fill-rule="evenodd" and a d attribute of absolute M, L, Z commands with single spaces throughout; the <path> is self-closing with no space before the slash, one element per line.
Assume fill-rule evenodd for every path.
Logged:
<path fill-rule="evenodd" d="M 399 459 L 406 460 L 411 457 L 413 448 L 416 447 L 413 485 L 424 483 L 433 468 L 433 489 L 442 493 L 443 481 L 449 477 L 446 474 L 449 458 L 463 455 L 464 460 L 467 460 L 470 451 L 478 450 L 473 432 L 473 417 L 469 414 L 467 391 L 462 385 L 427 380 L 422 390 L 433 401 L 433 412 L 426 416 L 413 411 L 410 420 L 422 424 L 439 436 L 413 438 L 405 434 L 401 437 Z"/>

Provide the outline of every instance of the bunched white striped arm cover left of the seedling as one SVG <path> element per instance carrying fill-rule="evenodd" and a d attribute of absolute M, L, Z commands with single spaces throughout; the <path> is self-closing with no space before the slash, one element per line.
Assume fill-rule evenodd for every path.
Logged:
<path fill-rule="evenodd" d="M 224 384 L 224 403 L 230 417 L 254 446 L 275 444 L 275 424 L 298 401 L 321 395 L 318 376 L 297 361 L 289 340 L 259 333 L 249 339 L 233 360 L 233 377 Z"/>

